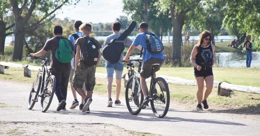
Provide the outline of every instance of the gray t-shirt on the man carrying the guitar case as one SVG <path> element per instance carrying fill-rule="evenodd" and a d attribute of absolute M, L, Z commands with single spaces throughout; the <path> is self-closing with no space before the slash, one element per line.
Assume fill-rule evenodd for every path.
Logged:
<path fill-rule="evenodd" d="M 107 36 L 106 39 L 105 39 L 105 41 L 103 42 L 102 47 L 104 48 L 111 40 L 113 40 L 113 39 L 115 39 L 115 38 L 117 38 L 117 37 L 119 37 L 119 36 L 120 36 L 120 33 L 113 33 L 113 34 Z M 124 41 L 124 45 L 131 46 L 131 45 L 132 45 L 132 42 L 133 42 L 133 40 L 131 40 L 130 38 L 127 37 L 127 38 L 125 39 L 125 41 Z M 124 64 L 124 63 L 122 62 L 123 60 L 124 60 L 124 53 L 122 52 L 121 57 L 120 57 L 120 59 L 119 59 L 118 62 L 121 63 L 121 64 Z M 108 63 L 108 61 L 106 61 L 106 63 Z"/>

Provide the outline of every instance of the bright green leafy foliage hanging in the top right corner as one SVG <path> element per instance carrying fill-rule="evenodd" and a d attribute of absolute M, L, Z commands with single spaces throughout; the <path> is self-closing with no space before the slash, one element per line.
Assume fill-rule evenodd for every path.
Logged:
<path fill-rule="evenodd" d="M 245 33 L 252 35 L 252 39 L 258 45 L 260 36 L 260 1 L 259 0 L 225 0 L 227 8 L 223 27 L 229 32 L 236 34 L 241 41 L 244 40 Z M 243 36 L 241 38 L 240 36 Z"/>

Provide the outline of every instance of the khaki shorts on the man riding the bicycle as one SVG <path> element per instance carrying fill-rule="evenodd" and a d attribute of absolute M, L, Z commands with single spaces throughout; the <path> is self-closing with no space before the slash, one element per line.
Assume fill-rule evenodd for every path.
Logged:
<path fill-rule="evenodd" d="M 152 75 L 153 64 L 157 64 L 157 63 L 160 64 L 160 66 L 155 67 L 153 73 L 160 70 L 160 67 L 164 63 L 164 60 L 153 58 L 153 57 L 151 57 L 149 60 L 146 60 L 145 63 L 143 63 L 142 65 L 140 76 L 145 79 L 149 78 Z"/>

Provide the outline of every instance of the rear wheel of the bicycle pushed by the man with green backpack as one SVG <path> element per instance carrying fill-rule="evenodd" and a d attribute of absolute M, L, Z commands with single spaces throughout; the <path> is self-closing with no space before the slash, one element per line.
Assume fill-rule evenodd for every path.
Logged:
<path fill-rule="evenodd" d="M 51 75 L 46 81 L 46 86 L 43 90 L 43 95 L 41 97 L 41 111 L 46 112 L 50 107 L 53 95 L 55 93 L 56 78 Z"/>

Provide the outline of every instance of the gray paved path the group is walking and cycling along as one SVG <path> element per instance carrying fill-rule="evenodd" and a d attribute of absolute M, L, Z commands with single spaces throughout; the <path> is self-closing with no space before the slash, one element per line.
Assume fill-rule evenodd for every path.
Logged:
<path fill-rule="evenodd" d="M 156 118 L 151 109 L 131 115 L 121 98 L 122 105 L 106 107 L 107 98 L 93 95 L 90 114 L 78 110 L 56 111 L 57 97 L 46 113 L 40 111 L 40 102 L 33 110 L 27 109 L 30 85 L 21 83 L 0 82 L 0 103 L 8 106 L 0 108 L 0 121 L 6 122 L 48 122 L 48 123 L 108 123 L 126 130 L 148 132 L 161 135 L 260 135 L 260 120 L 210 113 L 196 110 L 180 110 L 171 105 L 167 115 Z M 79 98 L 79 97 L 78 97 Z M 68 106 L 73 101 L 68 91 Z"/>

